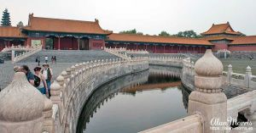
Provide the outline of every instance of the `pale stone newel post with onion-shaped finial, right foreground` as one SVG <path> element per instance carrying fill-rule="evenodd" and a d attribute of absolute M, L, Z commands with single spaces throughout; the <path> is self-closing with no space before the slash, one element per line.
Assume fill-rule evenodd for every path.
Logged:
<path fill-rule="evenodd" d="M 222 133 L 211 130 L 214 124 L 227 121 L 227 97 L 221 92 L 223 64 L 214 57 L 211 49 L 195 63 L 195 91 L 189 95 L 189 115 L 201 114 L 205 133 Z M 216 124 L 216 123 L 215 123 Z M 223 127 L 223 126 L 221 126 Z"/>

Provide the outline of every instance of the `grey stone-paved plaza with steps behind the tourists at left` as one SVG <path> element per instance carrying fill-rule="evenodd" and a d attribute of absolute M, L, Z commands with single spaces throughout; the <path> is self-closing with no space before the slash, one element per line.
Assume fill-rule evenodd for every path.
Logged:
<path fill-rule="evenodd" d="M 21 60 L 19 63 L 12 64 L 11 61 L 5 61 L 4 64 L 0 64 L 0 89 L 3 90 L 9 85 L 14 75 L 14 66 L 26 64 L 32 70 L 38 65 L 35 60 L 36 57 L 41 57 L 41 67 L 44 64 L 44 56 L 49 56 L 49 66 L 53 69 L 53 79 L 57 75 L 61 74 L 63 69 L 71 67 L 73 64 L 87 62 L 90 60 L 107 59 L 107 58 L 118 58 L 110 53 L 103 51 L 42 51 L 32 55 L 29 58 Z M 51 56 L 56 56 L 57 64 L 51 64 Z"/>

